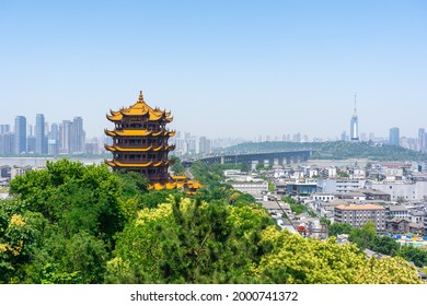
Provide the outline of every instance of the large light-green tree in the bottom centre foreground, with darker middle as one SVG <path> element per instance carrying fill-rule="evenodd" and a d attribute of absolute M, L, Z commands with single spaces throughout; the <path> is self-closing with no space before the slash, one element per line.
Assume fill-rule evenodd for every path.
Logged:
<path fill-rule="evenodd" d="M 107 281 L 149 283 L 252 282 L 259 231 L 273 224 L 249 205 L 170 199 L 141 211 L 118 236 Z"/>

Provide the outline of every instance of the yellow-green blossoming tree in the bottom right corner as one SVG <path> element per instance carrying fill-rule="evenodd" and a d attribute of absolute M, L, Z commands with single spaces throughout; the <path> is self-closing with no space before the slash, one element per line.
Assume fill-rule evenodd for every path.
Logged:
<path fill-rule="evenodd" d="M 401 258 L 368 259 L 355 245 L 338 245 L 334 237 L 304 239 L 268 227 L 261 245 L 265 252 L 253 272 L 262 283 L 420 283 L 414 267 Z"/>

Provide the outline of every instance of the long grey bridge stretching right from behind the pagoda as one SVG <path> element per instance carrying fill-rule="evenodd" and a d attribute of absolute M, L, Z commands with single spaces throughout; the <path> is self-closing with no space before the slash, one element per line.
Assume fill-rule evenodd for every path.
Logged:
<path fill-rule="evenodd" d="M 206 156 L 195 160 L 183 161 L 185 167 L 189 167 L 194 162 L 200 161 L 207 164 L 241 164 L 245 163 L 250 168 L 254 168 L 257 164 L 264 166 L 286 165 L 299 162 L 305 162 L 311 155 L 310 150 L 299 151 L 276 151 L 276 152 L 258 152 L 258 153 L 241 153 Z"/>

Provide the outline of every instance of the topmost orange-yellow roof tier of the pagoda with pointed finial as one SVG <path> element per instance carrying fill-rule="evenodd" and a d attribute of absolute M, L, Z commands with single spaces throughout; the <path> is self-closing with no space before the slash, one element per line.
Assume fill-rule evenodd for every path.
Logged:
<path fill-rule="evenodd" d="M 139 98 L 137 103 L 129 107 L 123 107 L 118 111 L 109 110 L 111 115 L 107 115 L 107 119 L 111 121 L 120 121 L 124 116 L 146 116 L 150 121 L 158 121 L 160 119 L 165 120 L 166 122 L 172 122 L 173 117 L 171 117 L 171 111 L 161 110 L 155 107 L 152 108 L 143 101 L 142 92 L 139 93 Z"/>

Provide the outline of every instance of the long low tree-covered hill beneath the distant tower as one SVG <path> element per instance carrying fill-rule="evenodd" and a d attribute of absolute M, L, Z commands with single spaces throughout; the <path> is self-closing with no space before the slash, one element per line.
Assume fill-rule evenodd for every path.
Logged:
<path fill-rule="evenodd" d="M 372 161 L 427 161 L 427 154 L 402 146 L 373 142 L 246 142 L 226 149 L 226 153 L 312 150 L 313 160 L 369 158 Z"/>

